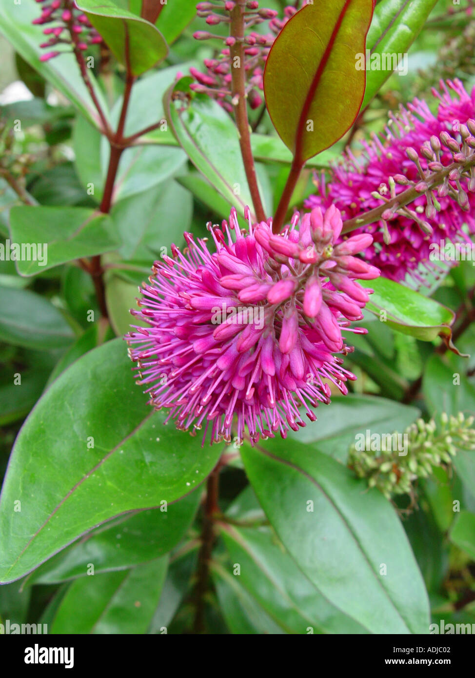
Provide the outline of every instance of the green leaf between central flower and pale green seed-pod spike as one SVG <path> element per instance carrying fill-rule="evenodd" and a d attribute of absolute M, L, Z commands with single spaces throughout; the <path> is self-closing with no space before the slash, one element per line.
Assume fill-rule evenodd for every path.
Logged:
<path fill-rule="evenodd" d="M 417 407 L 370 395 L 350 394 L 332 397 L 330 405 L 320 405 L 316 422 L 300 431 L 289 431 L 287 438 L 304 443 L 310 450 L 325 452 L 346 463 L 348 447 L 358 433 L 402 431 L 421 414 Z"/>

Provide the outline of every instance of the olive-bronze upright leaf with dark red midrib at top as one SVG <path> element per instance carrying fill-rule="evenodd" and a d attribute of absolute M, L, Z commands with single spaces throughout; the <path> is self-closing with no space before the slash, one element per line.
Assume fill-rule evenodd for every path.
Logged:
<path fill-rule="evenodd" d="M 373 0 L 314 0 L 285 24 L 264 71 L 268 112 L 297 164 L 351 127 L 365 94 L 365 52 Z M 331 114 L 329 112 L 331 111 Z"/>

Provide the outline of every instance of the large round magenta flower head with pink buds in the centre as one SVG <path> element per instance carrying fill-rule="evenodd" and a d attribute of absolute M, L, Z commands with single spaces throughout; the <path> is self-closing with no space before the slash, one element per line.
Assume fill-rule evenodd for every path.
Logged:
<path fill-rule="evenodd" d="M 347 393 L 354 375 L 342 367 L 342 330 L 361 319 L 377 268 L 355 257 L 368 234 L 336 245 L 342 218 L 334 207 L 297 214 L 280 235 L 272 220 L 239 228 L 235 210 L 222 228 L 208 224 L 215 244 L 185 234 L 186 250 L 155 262 L 142 288 L 148 327 L 126 336 L 150 404 L 169 408 L 184 431 L 203 428 L 211 441 L 253 443 L 287 435 L 314 421 L 312 408 L 329 403 L 331 384 Z M 234 428 L 233 428 L 234 427 Z"/>

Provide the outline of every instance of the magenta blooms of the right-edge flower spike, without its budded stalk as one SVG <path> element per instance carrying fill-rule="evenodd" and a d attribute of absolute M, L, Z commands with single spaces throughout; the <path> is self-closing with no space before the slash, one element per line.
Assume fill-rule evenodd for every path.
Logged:
<path fill-rule="evenodd" d="M 403 175 L 411 182 L 418 182 L 417 163 L 423 170 L 430 168 L 429 156 L 420 151 L 431 138 L 444 141 L 440 162 L 444 166 L 449 165 L 453 160 L 449 148 L 451 139 L 457 142 L 457 148 L 460 141 L 459 124 L 465 125 L 469 119 L 475 118 L 475 88 L 470 96 L 458 80 L 442 82 L 440 86 L 440 94 L 433 90 L 438 99 L 435 115 L 426 102 L 417 99 L 407 108 L 401 108 L 398 115 L 391 115 L 386 138 L 381 140 L 373 136 L 371 143 L 363 142 L 363 157 L 356 158 L 348 151 L 342 163 L 332 169 L 328 181 L 324 174 L 321 175 L 317 184 L 318 194 L 307 199 L 306 207 L 335 204 L 345 220 L 378 207 L 381 199 L 374 194 L 388 193 L 390 177 Z M 417 163 L 407 155 L 408 149 L 409 154 L 413 154 L 411 148 L 419 156 Z M 394 214 L 387 222 L 381 219 L 354 231 L 373 235 L 373 244 L 365 250 L 365 258 L 377 266 L 384 277 L 403 281 L 409 273 L 417 283 L 424 283 L 426 273 L 437 273 L 438 270 L 436 262 L 429 258 L 430 245 L 440 244 L 442 240 L 453 243 L 470 241 L 463 227 L 467 226 L 469 233 L 475 231 L 475 184 L 472 186 L 472 183 L 468 178 L 459 180 L 455 173 L 449 184 L 453 194 L 463 196 L 464 203 L 457 202 L 444 190 L 438 193 L 438 209 L 431 206 L 427 210 L 426 196 L 421 195 L 412 203 L 411 214 Z M 405 185 L 396 185 L 396 193 L 405 188 Z M 426 226 L 426 231 L 432 230 L 432 233 L 420 228 L 419 218 L 424 220 L 422 225 Z"/>

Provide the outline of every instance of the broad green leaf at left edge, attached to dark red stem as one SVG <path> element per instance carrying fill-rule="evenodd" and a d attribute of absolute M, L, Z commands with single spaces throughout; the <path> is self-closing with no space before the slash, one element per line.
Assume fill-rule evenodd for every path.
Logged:
<path fill-rule="evenodd" d="M 28 248 L 16 261 L 20 275 L 117 250 L 121 244 L 110 217 L 86 207 L 14 207 L 10 233 L 12 242 Z"/>

